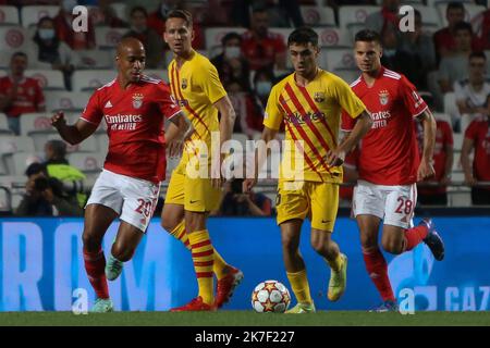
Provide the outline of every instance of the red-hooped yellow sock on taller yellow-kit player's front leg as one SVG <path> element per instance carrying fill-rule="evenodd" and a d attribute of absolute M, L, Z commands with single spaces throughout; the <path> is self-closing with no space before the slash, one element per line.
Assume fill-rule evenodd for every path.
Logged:
<path fill-rule="evenodd" d="M 196 271 L 199 296 L 207 304 L 215 302 L 212 266 L 215 252 L 207 229 L 196 231 L 187 235 L 192 248 L 194 270 Z"/>

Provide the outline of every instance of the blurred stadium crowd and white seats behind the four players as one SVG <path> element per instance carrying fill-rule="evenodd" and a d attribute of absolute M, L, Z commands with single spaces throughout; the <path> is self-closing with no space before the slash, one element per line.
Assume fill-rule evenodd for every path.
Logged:
<path fill-rule="evenodd" d="M 404 4 L 415 9 L 414 30 L 406 33 L 399 29 Z M 87 32 L 72 30 L 76 5 L 88 9 Z M 114 49 L 124 37 L 144 44 L 146 73 L 168 80 L 172 53 L 162 33 L 166 14 L 176 8 L 193 13 L 193 46 L 217 67 L 237 115 L 233 138 L 244 145 L 260 137 L 269 91 L 292 71 L 285 39 L 294 27 L 319 33 L 320 66 L 347 83 L 359 75 L 352 50 L 355 33 L 379 32 L 382 64 L 406 75 L 438 120 L 436 177 L 420 184 L 420 203 L 490 204 L 490 186 L 485 186 L 490 182 L 487 5 L 486 0 L 0 0 L 0 210 L 82 214 L 84 190 L 103 164 L 107 136 L 101 126 L 83 145 L 66 146 L 58 141 L 50 115 L 64 110 L 71 122 L 79 116 L 90 92 L 115 77 Z M 62 158 L 53 160 L 53 151 Z M 53 163 L 73 166 L 73 176 L 57 177 L 49 170 Z M 353 152 L 341 194 L 346 204 L 355 167 Z M 259 185 L 258 192 L 244 195 L 231 182 L 213 214 L 270 215 L 271 187 Z"/>

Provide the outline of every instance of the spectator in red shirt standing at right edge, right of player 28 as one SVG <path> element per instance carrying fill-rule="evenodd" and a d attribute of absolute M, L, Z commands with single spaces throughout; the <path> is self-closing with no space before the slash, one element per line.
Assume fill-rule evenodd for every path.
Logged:
<path fill-rule="evenodd" d="M 478 186 L 480 182 L 490 182 L 490 98 L 487 100 L 488 113 L 475 119 L 466 128 L 461 164 L 465 173 L 465 182 L 471 186 L 471 202 L 474 204 L 490 204 L 490 186 Z M 475 150 L 473 165 L 470 152 Z"/>

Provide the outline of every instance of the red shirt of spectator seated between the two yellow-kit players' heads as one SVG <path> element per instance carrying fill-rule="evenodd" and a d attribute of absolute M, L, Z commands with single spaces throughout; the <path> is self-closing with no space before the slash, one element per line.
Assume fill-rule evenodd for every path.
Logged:
<path fill-rule="evenodd" d="M 280 34 L 269 32 L 261 40 L 257 40 L 252 32 L 246 32 L 242 36 L 242 53 L 248 60 L 252 70 L 273 65 L 275 54 L 285 50 L 284 38 Z"/>

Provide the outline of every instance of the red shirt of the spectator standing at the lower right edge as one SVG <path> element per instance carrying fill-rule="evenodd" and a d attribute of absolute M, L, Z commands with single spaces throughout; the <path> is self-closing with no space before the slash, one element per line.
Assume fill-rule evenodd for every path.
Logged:
<path fill-rule="evenodd" d="M 466 128 L 465 138 L 475 145 L 473 175 L 480 182 L 490 182 L 490 127 L 489 120 L 474 120 Z"/>

